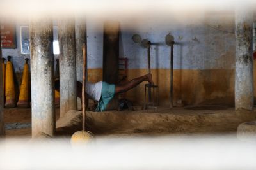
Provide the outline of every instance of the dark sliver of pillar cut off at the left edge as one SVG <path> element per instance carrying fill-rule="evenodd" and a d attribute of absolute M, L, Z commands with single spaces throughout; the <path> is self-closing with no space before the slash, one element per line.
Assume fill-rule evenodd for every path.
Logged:
<path fill-rule="evenodd" d="M 0 61 L 2 60 L 2 49 L 0 43 Z M 4 114 L 3 114 L 3 106 L 4 106 L 4 91 L 3 91 L 3 73 L 2 73 L 2 63 L 0 64 L 0 136 L 4 134 Z"/>

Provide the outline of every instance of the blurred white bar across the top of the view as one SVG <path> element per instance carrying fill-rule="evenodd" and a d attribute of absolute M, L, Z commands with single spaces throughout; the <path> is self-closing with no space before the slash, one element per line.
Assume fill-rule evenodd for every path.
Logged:
<path fill-rule="evenodd" d="M 29 17 L 29 15 L 67 15 L 84 13 L 98 17 L 129 17 L 141 15 L 163 17 L 163 15 L 184 15 L 207 10 L 234 10 L 234 4 L 242 2 L 255 8 L 254 0 L 1 0 L 2 15 Z M 139 15 L 140 14 L 140 15 Z"/>

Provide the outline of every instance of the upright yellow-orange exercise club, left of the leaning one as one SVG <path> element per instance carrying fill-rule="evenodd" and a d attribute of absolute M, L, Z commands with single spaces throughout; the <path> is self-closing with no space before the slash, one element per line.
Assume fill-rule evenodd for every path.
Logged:
<path fill-rule="evenodd" d="M 6 72 L 5 72 L 5 107 L 14 108 L 15 107 L 15 87 L 13 80 L 13 66 L 11 62 L 11 56 L 8 56 L 8 61 L 6 62 Z"/>

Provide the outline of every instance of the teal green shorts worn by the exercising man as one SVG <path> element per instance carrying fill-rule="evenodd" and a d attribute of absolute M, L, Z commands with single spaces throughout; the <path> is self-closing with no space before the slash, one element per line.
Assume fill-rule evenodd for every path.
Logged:
<path fill-rule="evenodd" d="M 111 101 L 111 99 L 113 99 L 114 96 L 115 96 L 115 85 L 102 82 L 101 97 L 95 111 L 106 110 L 106 107 L 109 101 Z"/>

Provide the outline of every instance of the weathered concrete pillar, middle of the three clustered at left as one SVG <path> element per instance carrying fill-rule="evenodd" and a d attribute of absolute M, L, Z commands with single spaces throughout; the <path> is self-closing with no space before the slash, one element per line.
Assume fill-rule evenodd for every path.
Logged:
<path fill-rule="evenodd" d="M 63 117 L 68 110 L 77 110 L 74 18 L 59 20 L 58 26 L 60 45 L 60 117 Z"/>

